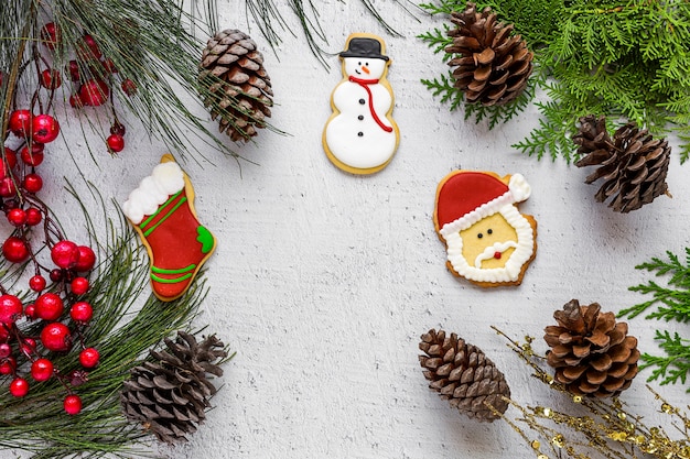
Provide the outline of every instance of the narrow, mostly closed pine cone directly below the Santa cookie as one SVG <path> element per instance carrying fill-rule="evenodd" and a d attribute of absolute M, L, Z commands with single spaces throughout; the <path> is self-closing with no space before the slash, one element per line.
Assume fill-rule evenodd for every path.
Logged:
<path fill-rule="evenodd" d="M 510 387 L 481 349 L 455 334 L 446 337 L 445 331 L 434 329 L 422 335 L 419 349 L 425 352 L 419 356 L 419 363 L 425 369 L 424 378 L 431 381 L 429 387 L 449 400 L 451 406 L 470 418 L 489 423 L 500 417 L 496 412 L 506 412 Z"/>

